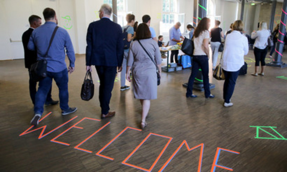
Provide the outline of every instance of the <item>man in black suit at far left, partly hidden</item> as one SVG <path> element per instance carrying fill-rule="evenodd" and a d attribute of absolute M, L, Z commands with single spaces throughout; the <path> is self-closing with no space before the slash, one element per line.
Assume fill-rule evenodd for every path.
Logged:
<path fill-rule="evenodd" d="M 37 61 L 37 51 L 29 50 L 27 48 L 28 42 L 29 42 L 29 39 L 30 39 L 30 36 L 31 36 L 33 30 L 36 29 L 37 27 L 41 26 L 42 19 L 39 16 L 32 15 L 29 17 L 29 23 L 30 23 L 30 28 L 28 30 L 26 30 L 22 35 L 22 43 L 23 43 L 23 47 L 24 47 L 24 57 L 25 57 L 25 67 L 28 68 L 28 71 L 30 70 L 31 64 L 36 63 L 36 61 Z M 37 82 L 33 81 L 30 74 L 29 74 L 29 77 L 30 77 L 29 78 L 30 97 L 31 97 L 33 104 L 35 105 L 35 95 L 36 95 L 36 90 L 37 90 L 36 89 Z M 47 95 L 45 105 L 56 105 L 59 102 L 59 101 L 54 101 L 51 98 L 51 90 L 52 90 L 52 88 L 50 89 L 50 91 Z"/>

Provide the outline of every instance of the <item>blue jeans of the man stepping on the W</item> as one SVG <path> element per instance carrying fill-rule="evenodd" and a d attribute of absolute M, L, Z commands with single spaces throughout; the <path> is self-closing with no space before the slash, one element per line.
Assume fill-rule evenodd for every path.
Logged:
<path fill-rule="evenodd" d="M 61 72 L 47 72 L 47 77 L 39 82 L 39 88 L 35 96 L 34 112 L 42 115 L 47 94 L 52 86 L 52 79 L 55 80 L 59 88 L 60 108 L 68 110 L 69 93 L 68 93 L 68 70 Z"/>

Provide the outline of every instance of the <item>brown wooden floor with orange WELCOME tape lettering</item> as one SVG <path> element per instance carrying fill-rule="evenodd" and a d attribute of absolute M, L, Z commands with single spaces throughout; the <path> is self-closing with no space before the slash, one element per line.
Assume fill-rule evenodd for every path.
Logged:
<path fill-rule="evenodd" d="M 120 91 L 119 75 L 110 103 L 115 117 L 100 120 L 95 70 L 94 98 L 80 99 L 85 57 L 77 56 L 76 71 L 69 75 L 69 105 L 78 111 L 61 116 L 59 105 L 46 106 L 42 117 L 52 113 L 30 133 L 35 128 L 29 124 L 33 105 L 24 61 L 1 61 L 0 171 L 229 171 L 225 166 L 237 172 L 286 172 L 287 80 L 276 77 L 287 76 L 287 68 L 266 67 L 264 77 L 254 77 L 253 51 L 245 60 L 248 74 L 237 79 L 231 108 L 222 106 L 223 81 L 213 79 L 211 71 L 214 99 L 198 91 L 196 99 L 185 97 L 182 84 L 190 69 L 163 73 L 148 126 L 140 130 L 140 102 L 132 90 Z M 59 99 L 54 82 L 52 96 Z"/>

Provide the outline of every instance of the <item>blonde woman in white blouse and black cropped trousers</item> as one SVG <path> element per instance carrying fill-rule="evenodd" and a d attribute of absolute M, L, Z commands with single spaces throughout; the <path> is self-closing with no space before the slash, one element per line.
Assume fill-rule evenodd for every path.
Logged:
<path fill-rule="evenodd" d="M 265 57 L 268 51 L 268 37 L 270 36 L 270 31 L 267 30 L 266 22 L 261 21 L 259 26 L 258 31 L 253 31 L 251 33 L 251 38 L 256 38 L 253 46 L 255 56 L 255 72 L 251 74 L 253 76 L 257 76 L 258 74 L 264 76 Z M 261 62 L 261 73 L 258 73 L 259 62 Z"/>

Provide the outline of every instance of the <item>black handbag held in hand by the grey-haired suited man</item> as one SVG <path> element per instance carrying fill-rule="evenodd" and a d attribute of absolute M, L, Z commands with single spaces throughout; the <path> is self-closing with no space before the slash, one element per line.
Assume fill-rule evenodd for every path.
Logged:
<path fill-rule="evenodd" d="M 88 101 L 91 100 L 93 96 L 94 96 L 94 83 L 92 73 L 88 70 L 81 89 L 81 99 Z"/>

